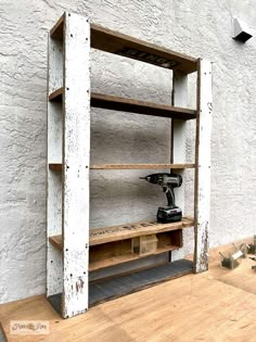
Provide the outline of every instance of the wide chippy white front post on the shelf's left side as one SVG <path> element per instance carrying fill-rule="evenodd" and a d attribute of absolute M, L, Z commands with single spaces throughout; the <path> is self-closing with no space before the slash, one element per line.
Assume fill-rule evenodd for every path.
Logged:
<path fill-rule="evenodd" d="M 90 24 L 66 13 L 64 25 L 63 317 L 88 309 Z"/>

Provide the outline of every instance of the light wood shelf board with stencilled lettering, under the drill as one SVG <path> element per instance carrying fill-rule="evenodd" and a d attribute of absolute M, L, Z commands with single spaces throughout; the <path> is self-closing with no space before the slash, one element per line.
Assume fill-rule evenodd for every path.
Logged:
<path fill-rule="evenodd" d="M 90 230 L 90 245 L 97 245 L 113 241 L 120 241 L 136 237 L 159 233 L 165 231 L 189 228 L 194 225 L 191 217 L 183 217 L 181 221 L 172 224 L 161 224 L 156 221 L 139 221 L 133 224 L 95 228 Z M 62 236 L 53 236 L 49 241 L 60 251 L 63 250 Z"/>

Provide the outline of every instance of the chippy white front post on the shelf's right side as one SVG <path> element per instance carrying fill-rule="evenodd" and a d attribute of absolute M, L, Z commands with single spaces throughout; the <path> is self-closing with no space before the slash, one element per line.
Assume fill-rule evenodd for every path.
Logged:
<path fill-rule="evenodd" d="M 195 251 L 194 271 L 208 269 L 208 231 L 210 204 L 212 63 L 199 61 L 197 127 L 195 155 Z"/>

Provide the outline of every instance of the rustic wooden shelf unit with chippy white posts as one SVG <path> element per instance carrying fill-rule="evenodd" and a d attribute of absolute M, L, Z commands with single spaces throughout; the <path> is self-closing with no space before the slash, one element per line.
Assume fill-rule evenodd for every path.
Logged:
<path fill-rule="evenodd" d="M 171 104 L 91 92 L 89 63 L 91 48 L 171 69 Z M 187 109 L 187 86 L 188 74 L 194 72 L 197 73 L 197 102 L 196 109 L 192 110 Z M 47 296 L 49 300 L 53 297 L 60 300 L 61 315 L 64 318 L 72 317 L 87 312 L 89 303 L 101 302 L 97 297 L 97 286 L 93 300 L 89 297 L 89 273 L 93 271 L 94 275 L 112 266 L 115 268 L 120 264 L 127 265 L 129 262 L 145 259 L 148 255 L 163 253 L 168 255 L 168 262 L 167 267 L 163 267 L 166 274 L 161 276 L 161 279 L 170 279 L 176 275 L 181 276 L 191 271 L 191 264 L 187 265 L 185 262 L 177 262 L 177 265 L 181 266 L 168 266 L 172 253 L 177 249 L 182 249 L 182 230 L 187 227 L 194 226 L 193 270 L 194 273 L 206 270 L 212 64 L 90 24 L 85 16 L 64 13 L 49 35 L 48 83 Z M 170 118 L 170 161 L 166 164 L 90 165 L 90 107 Z M 188 119 L 196 121 L 193 163 L 185 162 Z M 194 169 L 194 219 L 183 217 L 180 223 L 166 225 L 141 221 L 90 230 L 90 170 L 179 169 L 182 175 L 188 168 Z M 184 190 L 179 189 L 177 194 L 177 203 L 183 210 Z M 149 241 L 152 238 L 153 242 L 149 242 L 151 248 L 149 251 L 145 249 L 146 252 L 141 252 L 140 246 L 142 243 L 146 246 L 148 238 Z M 168 271 L 171 271 L 171 276 Z M 150 270 L 145 274 L 149 273 Z M 140 275 L 139 270 L 137 275 Z M 154 282 L 155 280 L 152 280 L 152 283 Z M 146 283 L 149 286 L 150 280 Z M 140 284 L 138 283 L 136 288 L 139 289 Z M 118 294 L 115 293 L 116 296 Z"/>

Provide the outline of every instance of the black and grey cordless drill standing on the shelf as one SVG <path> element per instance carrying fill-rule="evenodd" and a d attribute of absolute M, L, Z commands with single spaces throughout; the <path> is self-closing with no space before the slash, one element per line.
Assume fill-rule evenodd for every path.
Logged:
<path fill-rule="evenodd" d="M 153 185 L 163 187 L 163 191 L 166 193 L 168 204 L 167 206 L 159 206 L 157 211 L 157 221 L 167 224 L 181 220 L 182 211 L 175 205 L 175 191 L 174 188 L 179 188 L 182 185 L 182 177 L 175 174 L 152 174 L 145 177 L 145 179 Z"/>

